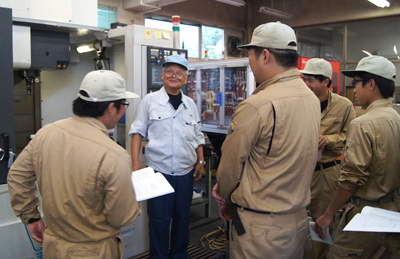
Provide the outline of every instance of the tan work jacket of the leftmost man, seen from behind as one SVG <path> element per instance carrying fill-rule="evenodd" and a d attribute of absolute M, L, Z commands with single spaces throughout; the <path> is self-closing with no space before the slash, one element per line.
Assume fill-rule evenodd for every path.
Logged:
<path fill-rule="evenodd" d="M 104 124 L 75 116 L 44 126 L 18 156 L 8 174 L 11 204 L 24 224 L 39 218 L 37 181 L 45 244 L 46 234 L 63 243 L 114 238 L 117 244 L 120 228 L 142 210 L 131 172 L 129 154 L 109 138 Z"/>

